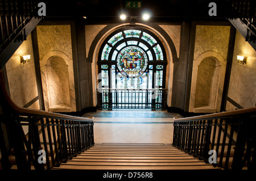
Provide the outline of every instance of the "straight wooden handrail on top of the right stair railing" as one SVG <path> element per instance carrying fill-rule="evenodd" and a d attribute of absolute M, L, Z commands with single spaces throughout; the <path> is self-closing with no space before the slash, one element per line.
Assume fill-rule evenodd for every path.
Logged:
<path fill-rule="evenodd" d="M 203 116 L 184 117 L 184 118 L 178 118 L 178 119 L 174 118 L 174 121 L 193 121 L 193 120 L 217 119 L 217 118 L 237 116 L 237 115 L 242 115 L 245 113 L 253 113 L 253 112 L 256 113 L 256 107 L 243 108 L 241 110 L 234 110 L 234 111 L 212 113 L 212 114 L 203 115 Z"/>

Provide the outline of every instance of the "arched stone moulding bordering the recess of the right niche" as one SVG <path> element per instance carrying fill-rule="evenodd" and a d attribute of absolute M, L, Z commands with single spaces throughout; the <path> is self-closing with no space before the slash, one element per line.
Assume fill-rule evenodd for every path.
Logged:
<path fill-rule="evenodd" d="M 212 77 L 212 82 L 210 82 L 211 93 L 209 95 L 208 106 L 195 107 L 196 103 L 196 89 L 197 89 L 197 76 L 199 73 L 199 65 L 206 58 L 212 58 L 215 60 L 215 70 Z M 224 79 L 226 71 L 226 60 L 217 52 L 208 51 L 200 54 L 199 57 L 195 58 L 193 61 L 193 72 L 192 72 L 192 82 L 191 82 L 191 95 L 189 100 L 189 112 L 220 112 L 221 98 L 224 88 Z M 214 84 L 216 86 L 214 86 Z"/>

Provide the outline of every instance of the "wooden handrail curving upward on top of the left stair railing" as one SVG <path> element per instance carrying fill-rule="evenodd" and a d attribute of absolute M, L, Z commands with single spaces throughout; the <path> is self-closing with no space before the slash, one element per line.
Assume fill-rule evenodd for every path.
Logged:
<path fill-rule="evenodd" d="M 42 111 L 42 110 L 33 110 L 29 108 L 23 108 L 20 106 L 17 106 L 13 100 L 11 100 L 5 86 L 5 79 L 3 77 L 3 70 L 0 69 L 0 86 L 1 90 L 3 92 L 3 95 L 7 104 L 9 104 L 10 108 L 12 108 L 15 112 L 19 113 L 21 116 L 44 116 L 44 117 L 52 117 L 56 119 L 67 119 L 67 120 L 81 120 L 81 121 L 93 121 L 93 118 L 87 118 L 87 117 L 77 117 L 77 116 L 69 116 L 69 115 L 63 115 L 60 113 L 54 113 L 54 112 L 48 112 L 48 111 Z"/>

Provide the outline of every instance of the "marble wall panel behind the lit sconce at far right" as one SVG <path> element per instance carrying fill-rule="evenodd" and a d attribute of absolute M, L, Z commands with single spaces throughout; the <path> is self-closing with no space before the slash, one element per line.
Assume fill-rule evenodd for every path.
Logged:
<path fill-rule="evenodd" d="M 237 62 L 237 56 L 247 56 L 247 64 Z M 256 51 L 245 41 L 240 32 L 236 32 L 232 70 L 229 83 L 229 98 L 244 108 L 256 104 Z M 226 110 L 234 110 L 226 106 Z"/>

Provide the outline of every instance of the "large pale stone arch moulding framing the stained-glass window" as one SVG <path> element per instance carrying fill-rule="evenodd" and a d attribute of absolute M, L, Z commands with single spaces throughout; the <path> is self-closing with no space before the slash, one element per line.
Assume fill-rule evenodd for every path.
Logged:
<path fill-rule="evenodd" d="M 115 30 L 118 30 L 119 28 L 131 26 L 130 23 L 125 24 L 112 24 L 104 27 L 98 35 L 94 38 L 92 44 L 89 48 L 88 53 L 88 59 L 89 61 L 92 61 L 92 82 L 93 82 L 93 106 L 97 105 L 97 77 L 98 77 L 98 69 L 97 69 L 97 60 L 98 60 L 98 52 L 100 50 L 100 47 L 106 37 L 108 37 L 112 32 Z M 168 89 L 168 95 L 167 95 L 167 104 L 168 106 L 171 106 L 171 95 L 172 95 L 172 79 L 173 79 L 173 72 L 174 72 L 174 62 L 178 61 L 177 58 L 177 51 L 175 48 L 175 45 L 173 41 L 171 40 L 170 36 L 156 23 L 148 24 L 142 24 L 142 23 L 136 23 L 135 26 L 146 28 L 147 30 L 154 33 L 156 36 L 159 37 L 160 41 L 162 41 L 164 48 L 166 50 L 166 56 L 168 61 L 168 66 L 166 70 L 166 87 Z"/>

